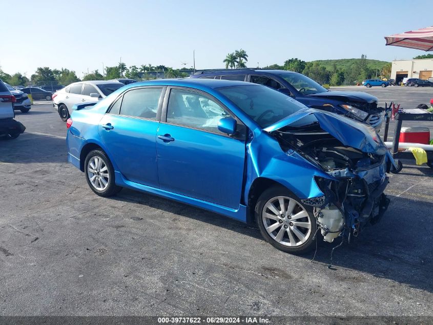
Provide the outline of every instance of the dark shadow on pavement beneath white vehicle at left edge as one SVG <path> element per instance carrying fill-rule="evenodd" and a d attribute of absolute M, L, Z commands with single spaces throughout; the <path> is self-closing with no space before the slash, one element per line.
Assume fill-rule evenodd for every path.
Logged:
<path fill-rule="evenodd" d="M 17 139 L 0 140 L 0 163 L 67 162 L 65 139 L 24 133 Z"/>

